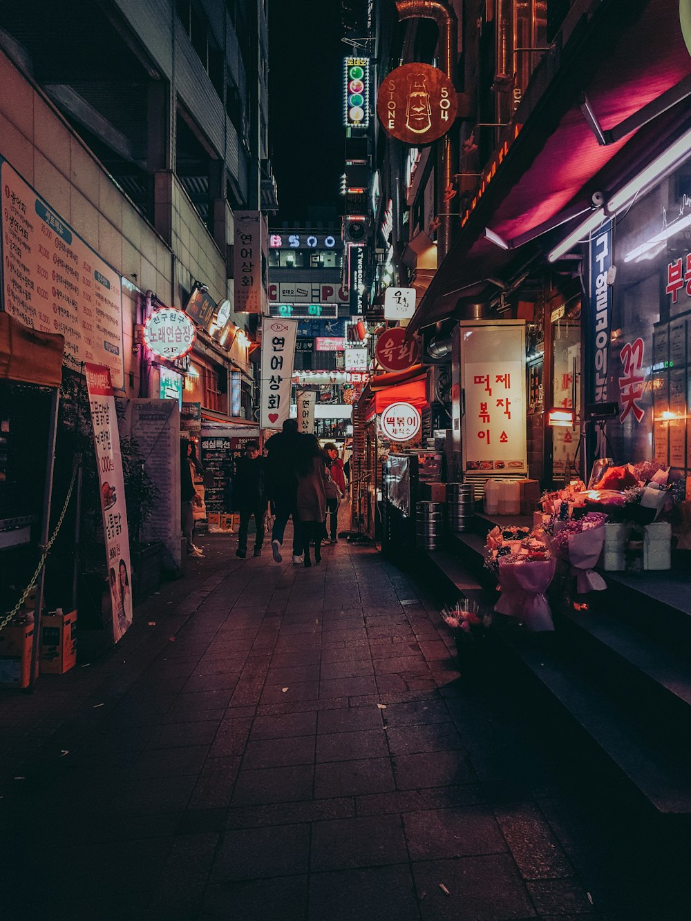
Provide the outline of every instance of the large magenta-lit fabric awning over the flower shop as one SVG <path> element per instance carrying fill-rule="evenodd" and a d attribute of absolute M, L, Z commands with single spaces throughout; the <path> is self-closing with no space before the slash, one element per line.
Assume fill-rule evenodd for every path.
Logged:
<path fill-rule="evenodd" d="M 496 294 L 493 275 L 516 274 L 517 261 L 525 264 L 539 252 L 536 244 L 501 250 L 481 236 L 485 227 L 502 239 L 520 239 L 571 209 L 588 208 L 603 174 L 615 182 L 617 170 L 621 175 L 630 167 L 636 156 L 632 138 L 640 134 L 644 152 L 659 125 L 688 115 L 680 102 L 645 128 L 600 146 L 580 110 L 585 93 L 603 129 L 611 130 L 691 75 L 677 0 L 631 0 L 626 12 L 615 2 L 603 3 L 586 28 L 573 29 L 556 63 L 546 55 L 533 75 L 516 113 L 526 123 L 515 139 L 511 134 L 502 162 L 470 203 L 460 237 L 418 305 L 409 334 L 451 316 L 461 297 Z"/>

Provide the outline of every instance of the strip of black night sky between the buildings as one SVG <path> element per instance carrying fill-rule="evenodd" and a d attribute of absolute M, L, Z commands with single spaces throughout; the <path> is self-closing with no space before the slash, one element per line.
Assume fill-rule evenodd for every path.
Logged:
<path fill-rule="evenodd" d="M 269 142 L 278 184 L 277 221 L 308 204 L 335 205 L 344 172 L 340 0 L 269 4 Z"/>

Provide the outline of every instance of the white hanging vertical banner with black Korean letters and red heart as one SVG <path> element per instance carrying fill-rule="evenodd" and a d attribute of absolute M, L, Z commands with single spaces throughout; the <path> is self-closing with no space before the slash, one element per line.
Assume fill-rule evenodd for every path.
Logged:
<path fill-rule="evenodd" d="M 264 320 L 260 408 L 262 428 L 280 428 L 290 415 L 290 386 L 297 334 L 297 320 Z"/>

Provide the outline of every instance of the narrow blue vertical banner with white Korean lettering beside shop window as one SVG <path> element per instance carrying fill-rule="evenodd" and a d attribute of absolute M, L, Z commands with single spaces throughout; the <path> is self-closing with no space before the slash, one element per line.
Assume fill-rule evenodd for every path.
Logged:
<path fill-rule="evenodd" d="M 589 243 L 591 269 L 590 356 L 588 398 L 586 402 L 607 402 L 607 360 L 609 336 L 612 325 L 612 286 L 607 284 L 607 273 L 614 262 L 614 220 L 610 218 L 591 235 Z M 604 457 L 607 445 L 603 427 L 594 433 L 594 443 L 589 446 L 589 459 Z"/>

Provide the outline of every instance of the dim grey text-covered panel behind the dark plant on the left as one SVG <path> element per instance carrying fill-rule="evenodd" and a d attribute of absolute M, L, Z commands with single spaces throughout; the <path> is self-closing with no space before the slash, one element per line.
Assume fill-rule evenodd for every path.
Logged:
<path fill-rule="evenodd" d="M 142 525 L 142 541 L 165 544 L 170 562 L 181 565 L 180 410 L 176 398 L 131 400 L 127 414 L 144 469 L 158 488 L 153 511 Z"/>

